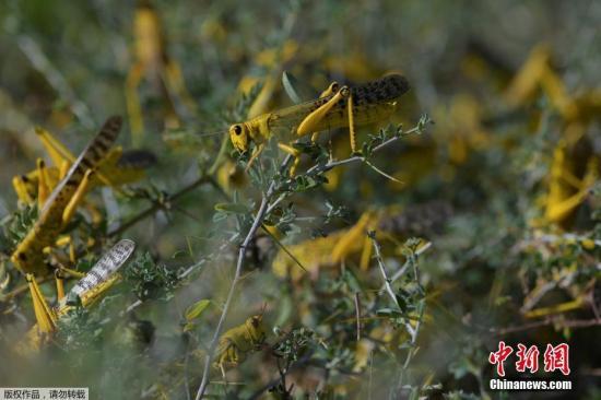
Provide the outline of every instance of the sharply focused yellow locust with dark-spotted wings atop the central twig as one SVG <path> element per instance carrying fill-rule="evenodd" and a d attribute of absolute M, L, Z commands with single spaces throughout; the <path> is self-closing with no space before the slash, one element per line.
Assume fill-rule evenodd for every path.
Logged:
<path fill-rule="evenodd" d="M 291 169 L 294 174 L 299 151 L 287 143 L 307 134 L 313 134 L 311 140 L 315 141 L 319 131 L 349 127 L 351 149 L 356 153 L 355 126 L 388 119 L 397 109 L 399 98 L 408 91 L 406 79 L 399 74 L 351 87 L 332 82 L 317 99 L 232 125 L 229 138 L 240 152 L 247 152 L 250 143 L 255 143 L 250 165 L 269 139 L 276 136 L 278 146 L 295 158 Z"/>

